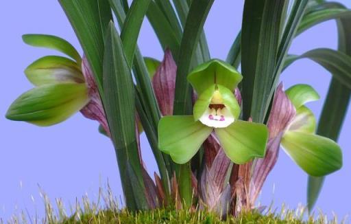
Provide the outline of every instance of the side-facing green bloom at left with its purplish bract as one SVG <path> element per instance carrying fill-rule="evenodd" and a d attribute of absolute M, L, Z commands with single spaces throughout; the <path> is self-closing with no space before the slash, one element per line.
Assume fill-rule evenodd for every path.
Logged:
<path fill-rule="evenodd" d="M 35 86 L 17 98 L 8 109 L 10 120 L 38 126 L 51 126 L 81 111 L 98 120 L 108 131 L 104 109 L 86 58 L 57 36 L 28 34 L 23 41 L 36 47 L 56 49 L 69 56 L 45 56 L 25 69 L 27 79 Z"/>

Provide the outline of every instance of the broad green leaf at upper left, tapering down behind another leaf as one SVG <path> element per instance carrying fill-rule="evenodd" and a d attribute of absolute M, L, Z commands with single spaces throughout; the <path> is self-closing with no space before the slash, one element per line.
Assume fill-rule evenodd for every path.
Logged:
<path fill-rule="evenodd" d="M 80 41 L 102 95 L 104 38 L 108 23 L 112 21 L 110 5 L 106 0 L 59 2 Z"/>

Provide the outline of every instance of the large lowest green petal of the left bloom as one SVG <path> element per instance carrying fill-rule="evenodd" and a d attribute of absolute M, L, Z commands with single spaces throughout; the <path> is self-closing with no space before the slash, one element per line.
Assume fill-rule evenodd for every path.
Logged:
<path fill-rule="evenodd" d="M 23 93 L 8 109 L 10 120 L 50 126 L 71 117 L 88 103 L 85 84 L 43 85 Z"/>

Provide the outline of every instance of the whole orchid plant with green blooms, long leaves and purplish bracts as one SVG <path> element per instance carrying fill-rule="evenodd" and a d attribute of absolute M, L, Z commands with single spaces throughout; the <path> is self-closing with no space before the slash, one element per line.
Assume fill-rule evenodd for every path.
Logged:
<path fill-rule="evenodd" d="M 128 209 L 174 205 L 220 216 L 254 209 L 282 146 L 309 175 L 311 210 L 324 177 L 341 168 L 335 141 L 351 93 L 351 12 L 343 5 L 245 0 L 242 30 L 223 61 L 210 57 L 203 32 L 214 0 L 59 2 L 84 55 L 57 36 L 24 35 L 25 43 L 66 57 L 29 65 L 25 75 L 34 89 L 14 100 L 6 117 L 51 126 L 80 111 L 99 122 L 114 144 Z M 136 45 L 145 16 L 165 49 L 161 62 L 143 57 Z M 339 50 L 288 54 L 295 36 L 328 19 L 337 20 Z M 318 126 L 305 106 L 319 99 L 313 87 L 284 91 L 279 84 L 300 58 L 333 77 Z M 141 157 L 142 132 L 158 165 L 154 179 Z"/>

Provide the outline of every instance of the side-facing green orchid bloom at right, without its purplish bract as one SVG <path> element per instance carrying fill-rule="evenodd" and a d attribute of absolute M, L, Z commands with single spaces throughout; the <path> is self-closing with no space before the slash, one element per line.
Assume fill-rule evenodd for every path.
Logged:
<path fill-rule="evenodd" d="M 321 177 L 339 170 L 341 148 L 331 139 L 315 135 L 315 116 L 304 106 L 306 102 L 318 100 L 318 93 L 309 85 L 294 85 L 285 93 L 296 114 L 282 135 L 282 148 L 308 175 Z"/>

